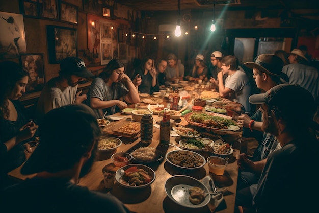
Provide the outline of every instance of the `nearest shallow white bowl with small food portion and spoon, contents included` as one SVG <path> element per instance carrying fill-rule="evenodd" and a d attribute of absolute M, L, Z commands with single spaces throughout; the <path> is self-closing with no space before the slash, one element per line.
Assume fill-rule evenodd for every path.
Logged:
<path fill-rule="evenodd" d="M 165 181 L 164 188 L 172 201 L 188 208 L 206 206 L 211 199 L 211 196 L 204 194 L 209 193 L 209 190 L 202 182 L 186 175 L 170 177 Z"/>

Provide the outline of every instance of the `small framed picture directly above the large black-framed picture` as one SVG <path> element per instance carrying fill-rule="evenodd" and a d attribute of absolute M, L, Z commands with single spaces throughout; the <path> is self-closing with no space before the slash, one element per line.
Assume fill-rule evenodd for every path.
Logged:
<path fill-rule="evenodd" d="M 77 25 L 77 6 L 61 2 L 60 4 L 60 20 Z"/>

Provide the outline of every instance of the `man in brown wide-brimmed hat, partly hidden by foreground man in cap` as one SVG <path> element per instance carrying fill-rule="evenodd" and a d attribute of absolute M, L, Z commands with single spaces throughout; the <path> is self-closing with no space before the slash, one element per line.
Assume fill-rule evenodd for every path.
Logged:
<path fill-rule="evenodd" d="M 268 91 L 274 86 L 289 81 L 288 76 L 281 71 L 283 61 L 274 54 L 261 54 L 256 57 L 254 62 L 246 62 L 244 65 L 252 69 L 256 86 L 263 91 Z M 237 124 L 244 127 L 244 137 L 255 137 L 261 141 L 251 160 L 244 153 L 237 156 L 238 165 L 246 167 L 246 170 L 242 169 L 239 173 L 236 205 L 240 206 L 239 208 L 247 208 L 251 207 L 257 182 L 261 170 L 267 162 L 268 155 L 280 149 L 281 146 L 274 135 L 262 131 L 262 112 L 260 109 L 251 117 L 247 114 L 238 116 Z"/>

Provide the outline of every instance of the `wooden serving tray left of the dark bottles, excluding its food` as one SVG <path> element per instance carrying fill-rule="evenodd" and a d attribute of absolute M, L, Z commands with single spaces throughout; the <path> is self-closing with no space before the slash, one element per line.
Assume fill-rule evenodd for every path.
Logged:
<path fill-rule="evenodd" d="M 126 124 L 129 124 L 129 123 L 134 123 L 134 124 L 137 124 L 137 125 L 140 126 L 141 124 L 139 122 L 120 120 L 120 121 L 116 121 L 116 122 L 113 122 L 113 123 L 111 123 L 108 126 L 104 127 L 103 131 L 106 132 L 106 133 L 109 133 L 109 134 L 114 134 L 114 135 L 118 135 L 118 136 L 122 136 L 122 137 L 128 137 L 128 138 L 132 138 L 132 137 L 136 136 L 141 131 L 140 128 L 138 130 L 134 131 L 134 132 L 131 132 L 131 133 L 118 130 L 120 127 L 122 127 L 122 126 L 124 126 Z"/>

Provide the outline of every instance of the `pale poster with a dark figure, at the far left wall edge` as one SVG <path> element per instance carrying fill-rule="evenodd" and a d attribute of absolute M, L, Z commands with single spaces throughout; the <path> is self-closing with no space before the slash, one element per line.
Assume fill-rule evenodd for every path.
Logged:
<path fill-rule="evenodd" d="M 0 12 L 0 59 L 26 53 L 23 15 Z"/>

